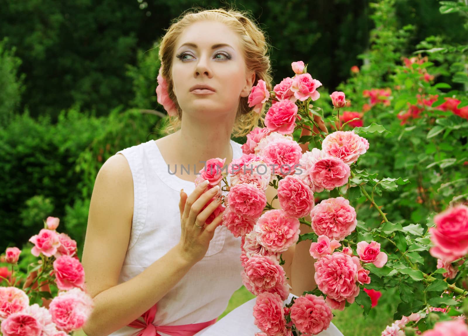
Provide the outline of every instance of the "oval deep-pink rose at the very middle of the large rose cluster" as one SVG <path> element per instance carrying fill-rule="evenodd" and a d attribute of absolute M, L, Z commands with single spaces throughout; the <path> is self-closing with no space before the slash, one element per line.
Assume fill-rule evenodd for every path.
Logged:
<path fill-rule="evenodd" d="M 314 193 L 299 177 L 288 175 L 278 182 L 278 201 L 289 216 L 307 216 L 314 207 Z"/>

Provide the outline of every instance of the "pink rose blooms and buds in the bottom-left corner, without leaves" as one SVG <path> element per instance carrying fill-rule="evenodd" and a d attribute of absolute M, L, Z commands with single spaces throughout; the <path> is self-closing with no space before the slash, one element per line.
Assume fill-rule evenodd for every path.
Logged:
<path fill-rule="evenodd" d="M 20 281 L 16 283 L 11 274 L 11 278 L 6 279 L 8 286 L 0 287 L 0 329 L 3 336 L 66 336 L 85 324 L 94 307 L 93 300 L 86 293 L 83 266 L 76 256 L 76 241 L 55 231 L 59 226 L 58 218 L 48 217 L 45 226 L 47 228 L 29 239 L 34 244 L 31 254 L 44 257 L 44 274 L 55 276 L 53 280 L 59 294 L 51 300 L 48 308 L 37 303 L 30 305 L 27 292 L 15 287 L 20 285 Z M 16 265 L 20 254 L 19 248 L 7 248 L 3 260 Z M 47 265 L 51 260 L 53 270 L 49 270 Z M 48 284 L 53 280 L 48 279 Z"/>

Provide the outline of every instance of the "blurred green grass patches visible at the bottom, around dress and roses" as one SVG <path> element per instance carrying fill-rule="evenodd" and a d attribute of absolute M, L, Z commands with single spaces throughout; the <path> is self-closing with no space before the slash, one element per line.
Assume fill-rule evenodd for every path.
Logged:
<path fill-rule="evenodd" d="M 398 304 L 398 299 L 392 299 L 391 292 L 384 293 L 379 304 L 371 309 L 369 316 L 364 319 L 362 308 L 357 304 L 346 307 L 344 311 L 333 310 L 336 316 L 333 318 L 333 324 L 343 333 L 344 336 L 378 336 L 385 327 L 392 323 L 393 311 Z M 226 310 L 219 315 L 219 319 L 239 307 L 244 302 L 255 298 L 244 286 L 234 292 Z M 74 336 L 86 336 L 83 330 L 77 330 Z"/>

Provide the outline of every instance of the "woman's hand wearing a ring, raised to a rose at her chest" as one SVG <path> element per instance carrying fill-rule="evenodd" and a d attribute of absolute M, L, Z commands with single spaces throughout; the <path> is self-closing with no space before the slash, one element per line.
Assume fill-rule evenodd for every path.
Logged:
<path fill-rule="evenodd" d="M 182 257 L 193 264 L 202 260 L 205 256 L 213 238 L 214 230 L 222 223 L 224 213 L 221 212 L 210 224 L 205 224 L 206 219 L 222 202 L 221 197 L 217 198 L 203 209 L 219 193 L 218 186 L 205 191 L 206 188 L 206 184 L 200 183 L 190 196 L 187 196 L 183 191 L 180 194 L 179 210 L 182 234 L 178 248 Z M 204 227 L 195 226 L 195 222 Z"/>

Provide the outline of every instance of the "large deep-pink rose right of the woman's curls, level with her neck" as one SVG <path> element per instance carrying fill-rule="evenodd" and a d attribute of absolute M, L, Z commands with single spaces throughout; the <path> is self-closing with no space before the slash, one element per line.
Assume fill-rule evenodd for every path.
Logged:
<path fill-rule="evenodd" d="M 271 105 L 265 116 L 265 126 L 281 134 L 291 134 L 296 126 L 297 105 L 289 100 L 282 100 Z"/>

